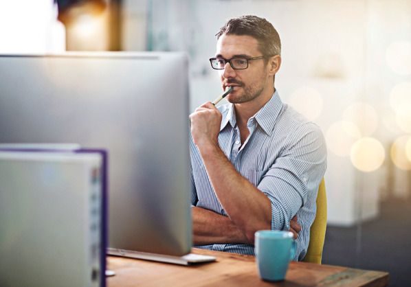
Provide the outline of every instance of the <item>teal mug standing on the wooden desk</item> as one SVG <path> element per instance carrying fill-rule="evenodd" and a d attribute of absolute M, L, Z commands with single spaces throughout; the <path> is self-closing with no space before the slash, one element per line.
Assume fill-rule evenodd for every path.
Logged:
<path fill-rule="evenodd" d="M 296 253 L 296 242 L 289 231 L 260 230 L 255 233 L 258 274 L 267 281 L 285 279 L 289 262 Z"/>

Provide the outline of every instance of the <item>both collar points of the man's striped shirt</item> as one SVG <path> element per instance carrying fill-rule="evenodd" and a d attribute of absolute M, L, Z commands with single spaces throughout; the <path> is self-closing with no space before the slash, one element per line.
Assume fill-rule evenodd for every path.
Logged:
<path fill-rule="evenodd" d="M 280 100 L 280 95 L 278 95 L 277 89 L 274 91 L 271 99 L 262 107 L 260 111 L 258 111 L 254 116 L 252 116 L 249 120 L 253 118 L 256 120 L 258 125 L 263 128 L 267 135 L 271 135 L 271 131 L 274 129 L 274 124 L 276 123 L 276 119 L 278 115 L 280 115 L 284 104 L 282 104 Z M 227 126 L 230 122 L 230 125 L 234 128 L 236 126 L 236 113 L 234 104 L 228 104 L 225 108 L 223 113 L 223 119 L 221 119 L 221 126 L 220 131 Z"/>

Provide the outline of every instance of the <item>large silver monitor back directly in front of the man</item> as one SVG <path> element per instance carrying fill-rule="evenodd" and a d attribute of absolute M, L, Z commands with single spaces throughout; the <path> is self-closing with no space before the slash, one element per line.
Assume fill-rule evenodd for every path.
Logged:
<path fill-rule="evenodd" d="M 109 151 L 109 246 L 192 244 L 188 58 L 179 53 L 0 56 L 0 143 Z"/>

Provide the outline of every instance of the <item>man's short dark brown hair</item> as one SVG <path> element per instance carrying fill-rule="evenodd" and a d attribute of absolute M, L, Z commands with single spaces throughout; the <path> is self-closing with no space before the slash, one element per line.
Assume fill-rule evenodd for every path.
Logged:
<path fill-rule="evenodd" d="M 252 36 L 258 41 L 258 49 L 264 56 L 281 54 L 280 36 L 274 26 L 264 18 L 245 15 L 230 19 L 216 34 L 217 40 L 223 34 Z"/>

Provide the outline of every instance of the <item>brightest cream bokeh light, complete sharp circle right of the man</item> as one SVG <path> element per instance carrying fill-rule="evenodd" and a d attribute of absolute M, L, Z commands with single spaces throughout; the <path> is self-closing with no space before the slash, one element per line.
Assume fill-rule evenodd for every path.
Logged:
<path fill-rule="evenodd" d="M 384 147 L 373 137 L 363 137 L 356 141 L 350 153 L 351 163 L 362 172 L 377 170 L 385 157 Z"/>

